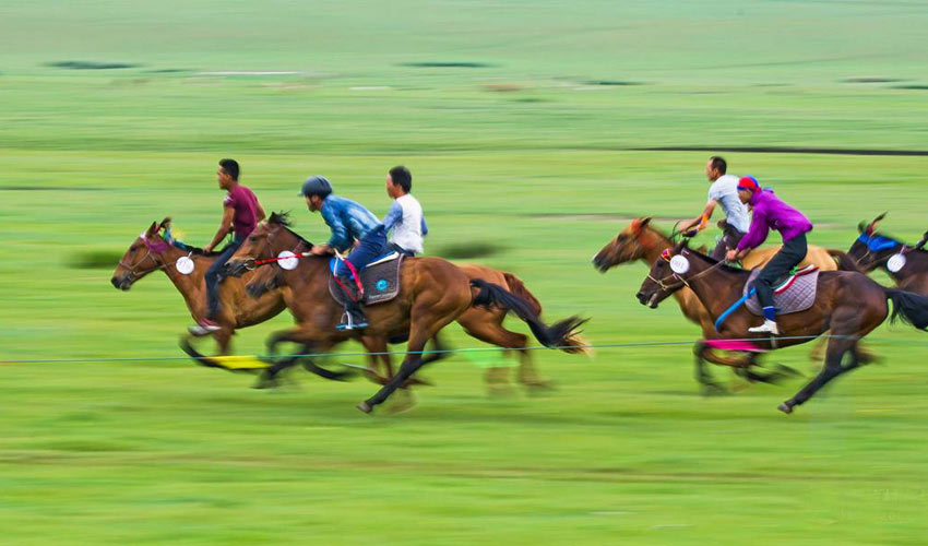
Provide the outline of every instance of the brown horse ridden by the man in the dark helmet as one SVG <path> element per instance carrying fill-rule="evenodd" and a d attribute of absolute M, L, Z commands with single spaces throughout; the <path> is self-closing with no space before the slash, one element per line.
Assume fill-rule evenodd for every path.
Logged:
<path fill-rule="evenodd" d="M 284 250 L 301 252 L 311 248 L 309 241 L 289 229 L 286 214 L 273 213 L 255 227 L 241 248 L 226 265 L 230 275 L 241 275 L 257 260 L 276 257 Z M 302 344 L 313 352 L 329 352 L 336 344 L 360 335 L 356 331 L 337 331 L 342 306 L 329 294 L 328 256 L 308 256 L 298 261 L 294 270 L 281 272 L 281 280 L 290 288 L 290 311 L 296 317 L 296 328 L 272 334 L 269 348 L 282 342 Z M 554 325 L 545 324 L 533 306 L 524 298 L 499 285 L 483 280 L 471 280 L 463 270 L 441 258 L 408 258 L 403 261 L 402 289 L 396 298 L 366 309 L 370 325 L 364 336 L 390 339 L 408 335 L 407 353 L 400 371 L 373 396 L 357 404 L 364 413 L 371 413 L 397 388 L 403 385 L 421 366 L 426 342 L 457 320 L 474 306 L 499 307 L 511 310 L 525 321 L 535 339 L 547 347 L 566 352 L 581 352 L 576 329 L 584 322 L 571 317 Z M 573 343 L 573 345 L 572 345 Z M 265 380 L 273 378 L 293 363 L 277 363 L 264 371 Z"/>

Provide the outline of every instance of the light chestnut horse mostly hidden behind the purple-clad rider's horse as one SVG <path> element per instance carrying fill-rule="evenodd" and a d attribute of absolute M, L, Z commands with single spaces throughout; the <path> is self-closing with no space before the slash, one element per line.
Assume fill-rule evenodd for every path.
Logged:
<path fill-rule="evenodd" d="M 635 260 L 641 260 L 650 268 L 655 260 L 661 258 L 661 252 L 664 249 L 675 245 L 675 241 L 669 236 L 664 235 L 664 233 L 651 224 L 651 219 L 650 216 L 633 219 L 628 227 L 619 232 L 615 239 L 607 242 L 593 257 L 594 268 L 605 273 L 611 268 Z M 780 251 L 778 246 L 759 248 L 745 257 L 741 263 L 745 269 L 759 268 L 769 262 L 777 251 Z M 836 269 L 856 270 L 853 261 L 841 250 L 825 249 L 811 245 L 809 246 L 806 259 L 802 261 L 804 266 L 808 264 L 818 265 L 821 271 L 834 271 Z M 683 287 L 674 293 L 674 297 L 677 299 L 683 317 L 699 324 L 703 336 L 713 339 L 717 335 L 709 311 L 692 290 Z M 812 354 L 816 355 L 819 353 L 820 347 L 817 346 L 812 351 Z M 813 356 L 813 358 L 816 357 Z M 756 354 L 748 354 L 743 358 L 726 358 L 714 351 L 707 351 L 705 359 L 713 364 L 729 366 L 752 380 L 776 380 L 781 377 L 776 373 L 772 376 L 760 376 L 741 371 L 758 364 Z"/>

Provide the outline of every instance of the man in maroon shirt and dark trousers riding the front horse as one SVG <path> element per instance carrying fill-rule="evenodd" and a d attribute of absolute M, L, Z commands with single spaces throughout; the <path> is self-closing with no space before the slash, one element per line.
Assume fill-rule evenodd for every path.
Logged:
<path fill-rule="evenodd" d="M 219 182 L 219 188 L 226 190 L 226 198 L 223 200 L 223 219 L 219 223 L 219 229 L 209 245 L 203 247 L 203 250 L 213 251 L 229 233 L 234 234 L 231 242 L 226 245 L 216 261 L 206 270 L 206 316 L 202 317 L 199 323 L 190 327 L 190 333 L 195 335 L 205 335 L 210 332 L 219 330 L 216 324 L 216 313 L 219 310 L 219 283 L 225 277 L 222 273 L 223 266 L 236 250 L 245 242 L 245 238 L 254 229 L 259 222 L 264 219 L 264 209 L 258 202 L 258 198 L 246 186 L 238 182 L 239 166 L 235 159 L 221 159 L 219 168 L 216 169 L 216 180 Z"/>

